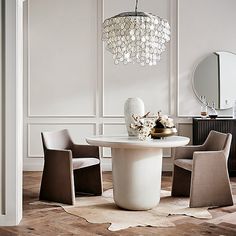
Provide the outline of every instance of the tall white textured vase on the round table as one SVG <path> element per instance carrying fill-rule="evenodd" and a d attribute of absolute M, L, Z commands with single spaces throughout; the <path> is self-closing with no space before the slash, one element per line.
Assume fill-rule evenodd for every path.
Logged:
<path fill-rule="evenodd" d="M 132 115 L 143 116 L 145 113 L 144 103 L 140 98 L 128 98 L 124 105 L 124 116 L 129 136 L 137 136 L 138 131 L 131 129 L 130 124 L 134 123 Z"/>

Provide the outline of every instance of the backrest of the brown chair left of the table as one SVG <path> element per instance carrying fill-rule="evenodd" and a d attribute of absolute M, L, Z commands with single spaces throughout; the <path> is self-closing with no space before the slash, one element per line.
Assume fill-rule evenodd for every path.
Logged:
<path fill-rule="evenodd" d="M 41 136 L 44 152 L 47 149 L 72 149 L 73 142 L 67 129 L 42 132 Z"/>

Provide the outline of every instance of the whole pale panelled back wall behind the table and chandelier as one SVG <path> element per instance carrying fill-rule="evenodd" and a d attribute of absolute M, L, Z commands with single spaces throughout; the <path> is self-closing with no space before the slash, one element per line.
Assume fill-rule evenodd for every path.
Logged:
<path fill-rule="evenodd" d="M 236 52 L 234 0 L 140 1 L 140 10 L 162 16 L 171 24 L 171 42 L 154 67 L 115 66 L 101 42 L 102 21 L 132 11 L 134 1 L 28 3 L 25 170 L 42 169 L 43 130 L 68 128 L 81 143 L 93 134 L 126 133 L 123 104 L 128 97 L 141 97 L 147 111 L 161 109 L 172 115 L 179 135 L 192 137 L 191 116 L 200 114 L 191 85 L 196 64 L 213 51 Z M 103 149 L 102 155 L 110 156 L 109 149 Z M 170 150 L 164 155 L 170 156 Z M 103 168 L 110 167 L 110 160 L 103 158 Z M 164 158 L 164 170 L 170 169 L 170 159 Z"/>

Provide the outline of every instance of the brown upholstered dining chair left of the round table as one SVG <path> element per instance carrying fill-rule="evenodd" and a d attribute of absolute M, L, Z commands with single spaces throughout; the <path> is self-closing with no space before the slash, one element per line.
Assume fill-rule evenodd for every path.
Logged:
<path fill-rule="evenodd" d="M 74 144 L 68 130 L 43 132 L 44 169 L 39 199 L 75 203 L 75 192 L 102 194 L 99 149 Z"/>

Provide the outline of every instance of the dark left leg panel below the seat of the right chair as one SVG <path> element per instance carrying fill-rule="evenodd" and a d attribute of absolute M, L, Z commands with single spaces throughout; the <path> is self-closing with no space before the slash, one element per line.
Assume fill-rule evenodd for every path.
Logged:
<path fill-rule="evenodd" d="M 190 184 L 191 184 L 191 171 L 185 170 L 183 168 L 174 165 L 171 196 L 189 197 Z"/>

